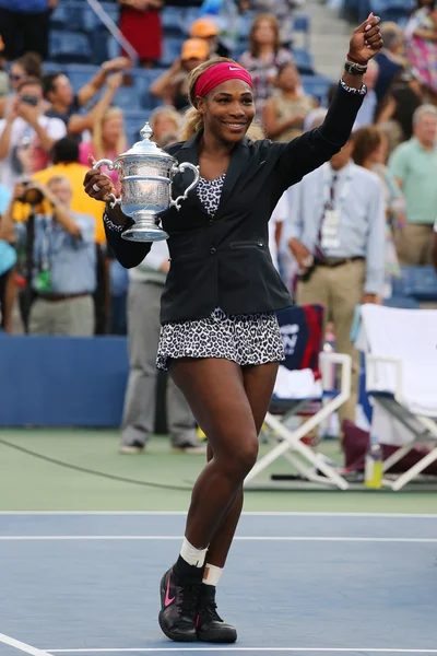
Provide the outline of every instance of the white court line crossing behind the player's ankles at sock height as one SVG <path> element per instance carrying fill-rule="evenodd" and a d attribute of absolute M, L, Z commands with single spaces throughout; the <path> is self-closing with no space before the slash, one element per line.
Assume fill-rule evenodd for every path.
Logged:
<path fill-rule="evenodd" d="M 9 541 L 68 541 L 68 540 L 181 540 L 182 536 L 0 536 L 0 542 Z M 411 542 L 436 543 L 437 538 L 374 538 L 349 536 L 236 536 L 241 542 Z M 437 653 L 437 651 L 436 651 Z"/>

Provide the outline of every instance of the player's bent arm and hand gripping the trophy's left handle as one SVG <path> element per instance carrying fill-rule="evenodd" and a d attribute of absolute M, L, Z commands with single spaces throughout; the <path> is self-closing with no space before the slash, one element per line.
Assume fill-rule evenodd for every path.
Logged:
<path fill-rule="evenodd" d="M 91 155 L 88 161 L 91 166 L 93 166 L 95 160 Z M 121 237 L 121 232 L 130 227 L 133 221 L 122 213 L 119 206 L 116 206 L 114 209 L 110 208 L 109 194 L 117 196 L 117 190 L 115 189 L 110 177 L 98 169 L 92 168 L 85 175 L 83 186 L 91 198 L 106 202 L 106 238 L 120 265 L 126 269 L 138 267 L 152 248 L 152 244 L 127 242 Z"/>

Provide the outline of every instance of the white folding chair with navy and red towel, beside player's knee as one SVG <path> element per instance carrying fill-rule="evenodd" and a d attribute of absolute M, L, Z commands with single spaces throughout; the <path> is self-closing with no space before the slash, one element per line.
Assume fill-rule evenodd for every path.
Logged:
<path fill-rule="evenodd" d="M 271 449 L 259 459 L 247 476 L 245 484 L 253 481 L 267 467 L 283 456 L 307 480 L 349 488 L 326 458 L 303 442 L 312 430 L 319 427 L 351 396 L 351 356 L 342 353 L 324 353 L 322 345 L 323 307 L 320 305 L 293 306 L 277 313 L 277 320 L 285 350 L 285 362 L 279 376 L 264 423 Z M 333 368 L 340 365 L 340 388 L 332 389 Z M 307 383 L 304 390 L 304 382 Z M 284 387 L 286 396 L 284 398 Z M 290 421 L 310 403 L 314 412 L 296 429 Z M 321 476 L 321 472 L 323 476 Z M 274 483 L 270 484 L 274 487 Z M 264 484 L 263 484 L 264 487 Z"/>

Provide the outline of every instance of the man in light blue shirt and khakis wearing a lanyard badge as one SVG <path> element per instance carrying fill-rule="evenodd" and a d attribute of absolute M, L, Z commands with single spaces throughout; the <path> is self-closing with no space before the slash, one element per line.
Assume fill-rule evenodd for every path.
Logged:
<path fill-rule="evenodd" d="M 383 289 L 386 216 L 375 173 L 352 161 L 353 140 L 293 187 L 284 231 L 299 267 L 296 301 L 320 303 L 335 327 L 335 349 L 352 356 L 352 394 L 340 419 L 355 422 L 359 355 L 351 341 L 355 307 Z"/>

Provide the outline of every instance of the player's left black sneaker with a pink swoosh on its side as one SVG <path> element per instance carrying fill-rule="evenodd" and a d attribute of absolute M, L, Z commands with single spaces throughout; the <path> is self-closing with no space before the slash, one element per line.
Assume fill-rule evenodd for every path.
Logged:
<path fill-rule="evenodd" d="M 160 626 L 175 642 L 194 642 L 199 584 L 179 583 L 173 569 L 161 581 Z"/>

